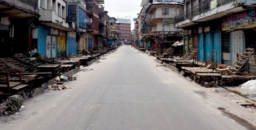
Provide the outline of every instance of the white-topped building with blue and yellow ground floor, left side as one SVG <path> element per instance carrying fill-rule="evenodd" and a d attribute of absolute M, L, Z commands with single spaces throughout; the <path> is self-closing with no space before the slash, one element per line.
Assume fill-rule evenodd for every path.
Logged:
<path fill-rule="evenodd" d="M 58 58 L 67 53 L 67 1 L 39 0 L 39 27 L 33 31 L 41 55 Z"/>

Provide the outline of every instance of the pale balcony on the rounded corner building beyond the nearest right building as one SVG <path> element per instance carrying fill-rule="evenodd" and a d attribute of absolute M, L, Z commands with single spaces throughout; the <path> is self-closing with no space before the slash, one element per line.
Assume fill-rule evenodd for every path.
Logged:
<path fill-rule="evenodd" d="M 146 19 L 146 24 L 148 25 L 153 25 L 158 23 L 158 21 L 163 21 L 164 17 L 166 19 L 168 18 L 175 18 L 177 16 L 176 14 L 168 14 L 168 15 L 163 15 L 163 14 L 153 14 L 151 15 L 148 19 Z"/>

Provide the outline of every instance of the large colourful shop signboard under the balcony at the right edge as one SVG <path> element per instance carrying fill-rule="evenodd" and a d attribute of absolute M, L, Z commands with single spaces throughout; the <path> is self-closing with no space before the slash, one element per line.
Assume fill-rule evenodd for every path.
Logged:
<path fill-rule="evenodd" d="M 222 30 L 231 30 L 234 28 L 252 28 L 256 27 L 255 11 L 246 10 L 223 17 Z"/>

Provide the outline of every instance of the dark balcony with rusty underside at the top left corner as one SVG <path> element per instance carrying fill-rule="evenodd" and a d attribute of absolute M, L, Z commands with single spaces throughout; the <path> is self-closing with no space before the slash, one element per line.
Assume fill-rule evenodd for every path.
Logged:
<path fill-rule="evenodd" d="M 40 16 L 37 13 L 37 6 L 37 0 L 2 0 L 0 1 L 1 17 Z"/>

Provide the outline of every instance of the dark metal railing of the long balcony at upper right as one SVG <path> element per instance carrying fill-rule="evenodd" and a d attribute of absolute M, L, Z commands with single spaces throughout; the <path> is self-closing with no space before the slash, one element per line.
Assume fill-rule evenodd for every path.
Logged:
<path fill-rule="evenodd" d="M 236 0 L 217 0 L 217 7 L 221 5 L 225 5 L 231 3 Z M 206 0 L 200 4 L 193 6 L 193 8 L 188 9 L 187 11 L 183 11 L 180 15 L 175 17 L 175 23 L 182 22 L 185 19 L 192 18 L 193 16 L 200 15 L 203 12 L 207 12 L 210 10 L 210 0 Z"/>

